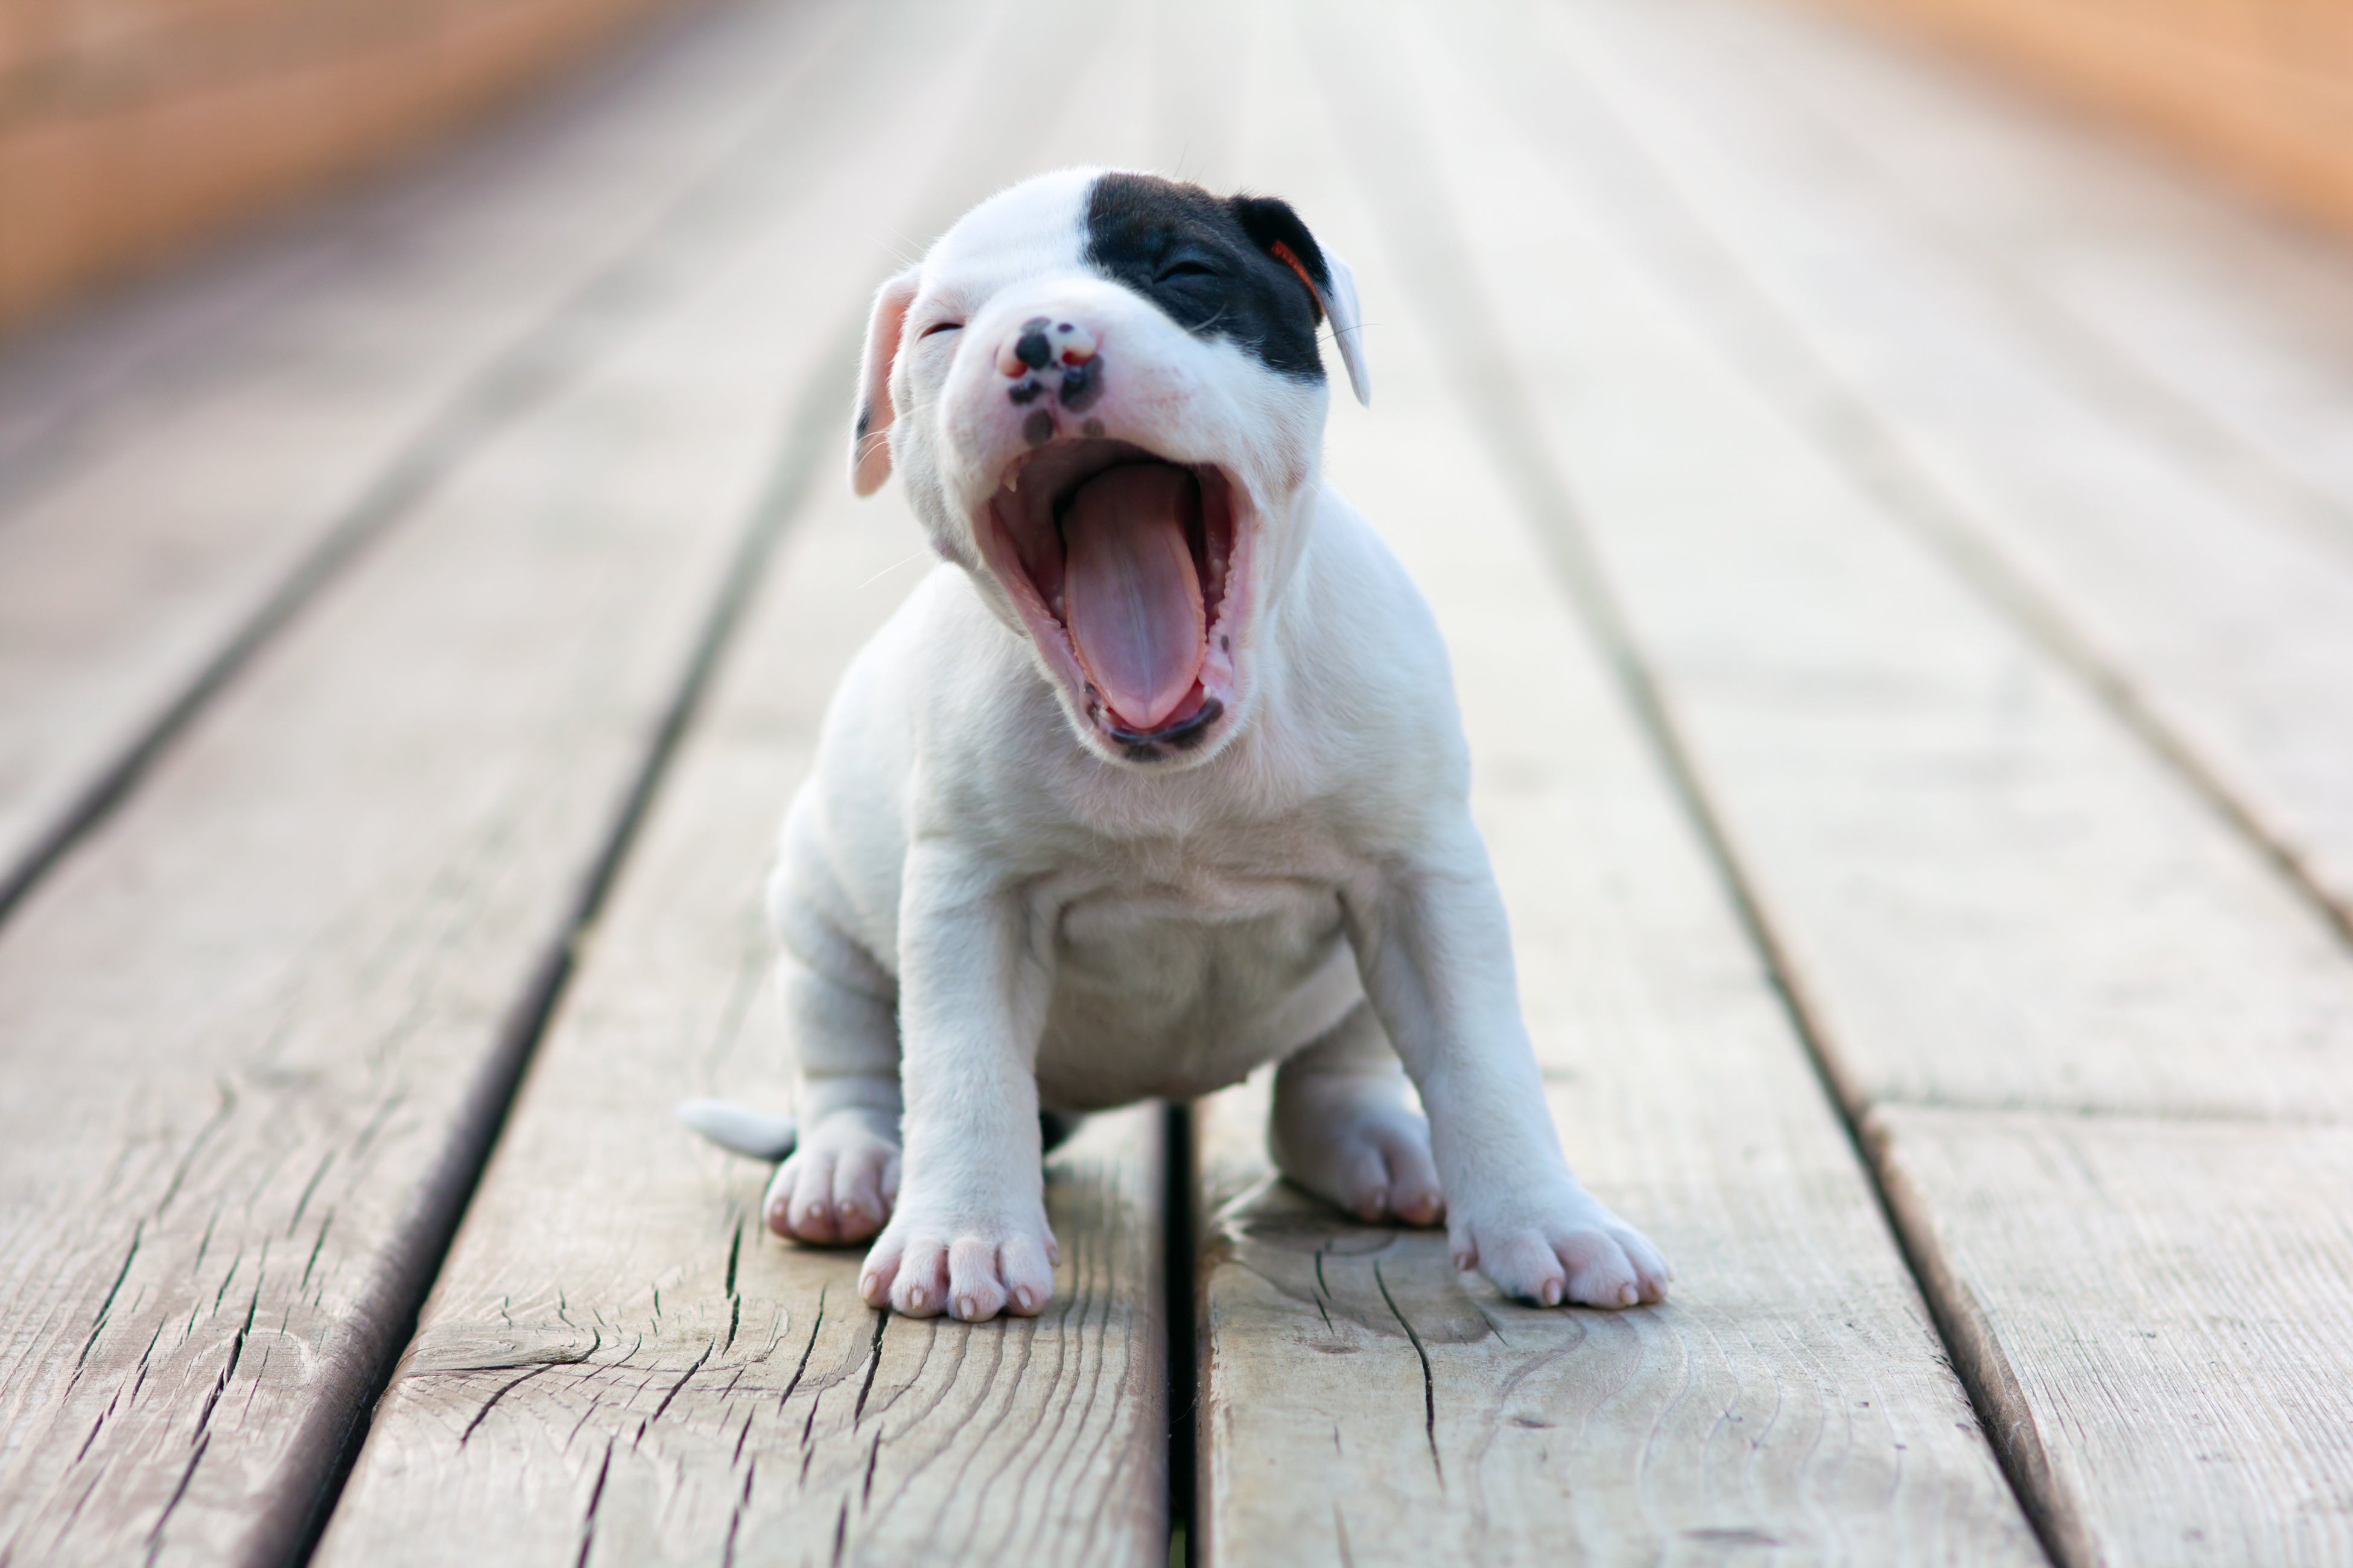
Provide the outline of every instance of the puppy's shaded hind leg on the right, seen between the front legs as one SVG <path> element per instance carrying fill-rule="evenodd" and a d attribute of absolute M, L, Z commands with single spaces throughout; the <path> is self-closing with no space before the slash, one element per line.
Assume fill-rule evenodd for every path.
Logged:
<path fill-rule="evenodd" d="M 1282 1063 L 1266 1133 L 1282 1175 L 1360 1220 L 1445 1215 L 1431 1124 L 1369 1001 Z"/>

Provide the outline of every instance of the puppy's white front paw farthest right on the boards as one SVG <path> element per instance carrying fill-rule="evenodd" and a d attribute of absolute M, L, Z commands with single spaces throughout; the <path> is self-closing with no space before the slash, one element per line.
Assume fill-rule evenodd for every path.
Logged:
<path fill-rule="evenodd" d="M 1506 1295 L 1546 1307 L 1635 1307 L 1666 1300 L 1675 1276 L 1659 1248 L 1591 1192 L 1471 1208 L 1447 1227 L 1454 1267 L 1475 1267 Z"/>

